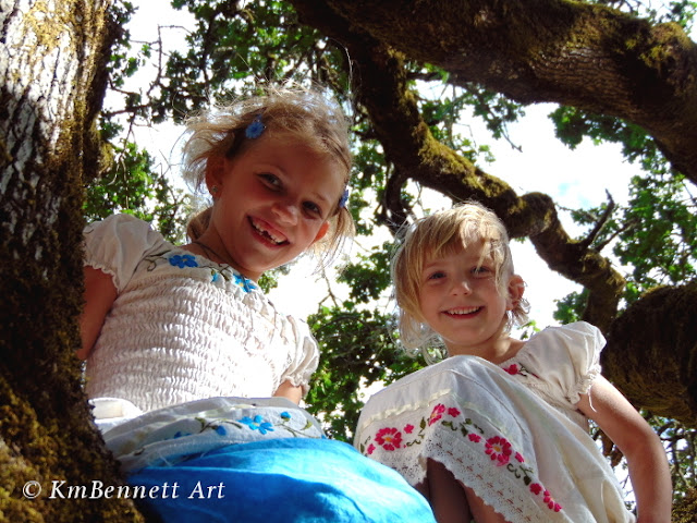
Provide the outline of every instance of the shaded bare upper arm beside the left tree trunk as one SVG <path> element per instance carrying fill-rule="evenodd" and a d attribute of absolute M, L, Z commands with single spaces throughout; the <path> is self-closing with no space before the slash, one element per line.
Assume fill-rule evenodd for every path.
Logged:
<path fill-rule="evenodd" d="M 84 308 L 80 317 L 80 332 L 83 346 L 77 350 L 77 357 L 87 360 L 105 318 L 117 299 L 117 288 L 110 275 L 94 267 L 85 267 Z"/>

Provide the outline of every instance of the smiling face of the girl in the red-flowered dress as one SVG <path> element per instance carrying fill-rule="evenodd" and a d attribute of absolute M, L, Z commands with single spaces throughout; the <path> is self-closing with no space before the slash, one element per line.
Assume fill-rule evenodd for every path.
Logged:
<path fill-rule="evenodd" d="M 454 246 L 426 260 L 419 281 L 418 304 L 424 320 L 438 332 L 451 355 L 488 357 L 504 337 L 519 292 L 519 277 L 511 276 L 508 292 L 497 285 L 492 259 L 484 243 Z M 519 296 L 517 296 L 519 299 Z"/>

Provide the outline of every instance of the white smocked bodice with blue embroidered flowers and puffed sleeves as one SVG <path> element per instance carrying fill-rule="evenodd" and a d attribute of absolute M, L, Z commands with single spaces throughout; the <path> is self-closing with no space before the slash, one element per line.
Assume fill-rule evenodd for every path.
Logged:
<path fill-rule="evenodd" d="M 307 388 L 318 350 L 307 325 L 277 311 L 250 280 L 115 215 L 85 230 L 85 265 L 118 297 L 87 360 L 86 391 L 139 411 L 211 397 Z M 154 328 L 155 327 L 155 328 Z"/>

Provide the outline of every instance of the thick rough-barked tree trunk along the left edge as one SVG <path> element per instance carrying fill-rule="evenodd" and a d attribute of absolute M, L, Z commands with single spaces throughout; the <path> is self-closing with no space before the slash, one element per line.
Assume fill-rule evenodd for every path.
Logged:
<path fill-rule="evenodd" d="M 0 514 L 137 521 L 82 390 L 82 179 L 113 33 L 108 0 L 0 3 Z M 62 489 L 54 485 L 65 482 Z M 34 482 L 34 483 L 33 483 Z M 69 486 L 81 499 L 61 499 Z M 40 491 L 40 494 L 39 494 Z M 52 495 L 52 496 L 51 496 Z M 97 496 L 99 498 L 99 496 Z"/>

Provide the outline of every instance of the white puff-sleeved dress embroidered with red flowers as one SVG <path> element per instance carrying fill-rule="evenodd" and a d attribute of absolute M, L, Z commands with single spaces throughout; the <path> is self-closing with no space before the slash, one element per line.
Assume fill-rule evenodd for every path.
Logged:
<path fill-rule="evenodd" d="M 632 522 L 574 406 L 603 345 L 598 329 L 576 323 L 543 330 L 499 366 L 449 357 L 372 396 L 355 446 L 412 485 L 436 460 L 508 521 Z"/>

